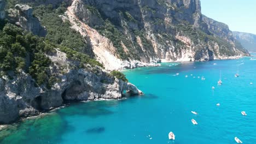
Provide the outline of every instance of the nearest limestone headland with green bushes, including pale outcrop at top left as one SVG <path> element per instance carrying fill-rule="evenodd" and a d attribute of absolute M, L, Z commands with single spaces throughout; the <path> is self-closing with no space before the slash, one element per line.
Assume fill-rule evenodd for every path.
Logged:
<path fill-rule="evenodd" d="M 1 13 L 5 13 L 4 7 L 5 1 L 0 1 Z M 0 44 L 0 124 L 38 115 L 67 100 L 121 99 L 124 92 L 142 94 L 135 85 L 110 74 L 90 56 L 62 47 L 68 49 L 65 53 L 56 48 L 60 45 L 34 37 L 33 34 L 45 36 L 46 29 L 32 13 L 30 6 L 16 4 L 15 9 L 8 10 L 8 16 L 1 18 L 5 26 L 1 28 Z M 5 18 L 16 26 L 3 21 Z M 40 66 L 44 62 L 36 55 L 46 57 L 44 68 Z M 22 66 L 18 68 L 18 65 Z M 35 71 L 31 72 L 33 65 Z M 43 68 L 42 83 L 33 76 L 40 68 Z M 49 76 L 53 78 L 51 85 L 48 85 Z"/>

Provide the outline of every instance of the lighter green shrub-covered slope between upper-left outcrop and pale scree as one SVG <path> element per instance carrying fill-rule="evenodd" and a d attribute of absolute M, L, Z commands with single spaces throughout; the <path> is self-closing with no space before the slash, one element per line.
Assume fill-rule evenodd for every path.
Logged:
<path fill-rule="evenodd" d="M 79 52 L 91 53 L 82 35 L 71 28 L 67 21 L 63 21 L 59 15 L 66 11 L 66 4 L 53 9 L 51 5 L 39 5 L 34 8 L 34 15 L 40 18 L 40 22 L 47 29 L 46 39 L 52 43 L 67 46 Z"/>

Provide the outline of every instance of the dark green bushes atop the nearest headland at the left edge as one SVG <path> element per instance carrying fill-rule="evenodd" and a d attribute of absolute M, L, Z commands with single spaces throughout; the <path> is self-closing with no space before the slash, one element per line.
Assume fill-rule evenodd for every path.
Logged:
<path fill-rule="evenodd" d="M 49 84 L 50 59 L 43 53 L 54 52 L 54 47 L 44 38 L 24 32 L 10 23 L 0 31 L 0 70 L 5 74 L 27 71 L 39 85 Z"/>

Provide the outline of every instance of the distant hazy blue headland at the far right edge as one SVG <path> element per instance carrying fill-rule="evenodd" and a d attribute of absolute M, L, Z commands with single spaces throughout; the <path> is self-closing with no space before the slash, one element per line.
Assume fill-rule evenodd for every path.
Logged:
<path fill-rule="evenodd" d="M 233 32 L 235 39 L 250 52 L 256 52 L 256 35 L 251 33 Z"/>

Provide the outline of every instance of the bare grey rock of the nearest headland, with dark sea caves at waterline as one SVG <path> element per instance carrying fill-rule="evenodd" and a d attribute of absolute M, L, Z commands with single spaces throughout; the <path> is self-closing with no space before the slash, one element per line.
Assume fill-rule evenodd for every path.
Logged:
<path fill-rule="evenodd" d="M 116 79 L 99 67 L 69 69 L 74 63 L 61 51 L 49 57 L 53 61 L 51 73 L 58 79 L 50 89 L 38 87 L 32 77 L 23 72 L 12 80 L 7 76 L 0 78 L 0 123 L 38 115 L 40 111 L 61 106 L 65 100 L 120 99 L 124 91 L 142 94 L 136 86 Z"/>

